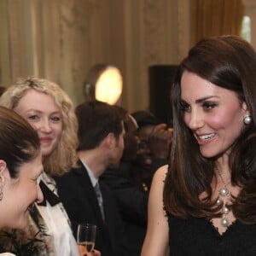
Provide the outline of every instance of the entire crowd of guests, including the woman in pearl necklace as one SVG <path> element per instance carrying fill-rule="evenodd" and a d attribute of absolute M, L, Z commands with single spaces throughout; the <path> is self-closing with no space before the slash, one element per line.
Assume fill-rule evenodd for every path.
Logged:
<path fill-rule="evenodd" d="M 217 55 L 218 53 L 218 55 Z M 148 111 L 19 79 L 0 97 L 0 254 L 256 254 L 256 53 L 236 36 L 189 50 L 172 127 Z M 78 225 L 96 224 L 91 252 Z"/>

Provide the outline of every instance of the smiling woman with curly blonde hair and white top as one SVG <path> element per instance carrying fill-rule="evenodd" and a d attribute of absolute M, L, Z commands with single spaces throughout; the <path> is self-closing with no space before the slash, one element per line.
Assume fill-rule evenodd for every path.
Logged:
<path fill-rule="evenodd" d="M 9 87 L 1 96 L 0 105 L 14 109 L 33 126 L 38 132 L 43 155 L 44 173 L 40 188 L 44 201 L 32 209 L 26 236 L 16 231 L 12 237 L 19 244 L 16 249 L 26 251 L 26 255 L 79 255 L 70 221 L 52 178 L 68 172 L 78 160 L 73 103 L 58 84 L 30 77 Z M 32 242 L 27 247 L 30 240 Z M 95 255 L 99 254 L 96 252 Z"/>

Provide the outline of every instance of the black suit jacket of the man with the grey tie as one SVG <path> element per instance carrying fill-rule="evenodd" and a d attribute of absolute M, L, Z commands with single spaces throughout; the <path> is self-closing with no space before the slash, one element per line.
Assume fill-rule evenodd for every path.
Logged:
<path fill-rule="evenodd" d="M 79 223 L 96 224 L 96 246 L 102 256 L 126 256 L 125 233 L 115 198 L 108 186 L 100 183 L 105 223 L 96 192 L 90 182 L 88 172 L 79 161 L 79 167 L 61 177 L 55 177 L 58 193 L 73 225 L 76 237 Z"/>

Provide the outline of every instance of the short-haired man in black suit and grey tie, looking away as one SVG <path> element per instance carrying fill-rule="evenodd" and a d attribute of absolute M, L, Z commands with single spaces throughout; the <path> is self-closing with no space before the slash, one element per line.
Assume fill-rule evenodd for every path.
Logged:
<path fill-rule="evenodd" d="M 79 162 L 71 172 L 55 177 L 61 201 L 75 236 L 79 223 L 96 224 L 96 249 L 102 256 L 127 255 L 115 198 L 99 181 L 107 168 L 119 166 L 124 149 L 122 118 L 116 108 L 103 102 L 84 102 L 76 108 L 76 114 Z"/>

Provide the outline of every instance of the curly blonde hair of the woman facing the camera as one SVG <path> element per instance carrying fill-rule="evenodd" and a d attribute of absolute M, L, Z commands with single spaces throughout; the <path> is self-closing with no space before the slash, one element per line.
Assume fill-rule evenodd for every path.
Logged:
<path fill-rule="evenodd" d="M 74 113 L 73 102 L 58 84 L 47 79 L 28 77 L 18 79 L 0 97 L 0 105 L 14 109 L 27 90 L 37 90 L 52 96 L 55 104 L 61 110 L 61 138 L 51 154 L 44 157 L 44 171 L 50 176 L 61 175 L 76 166 L 78 156 L 78 123 Z"/>

